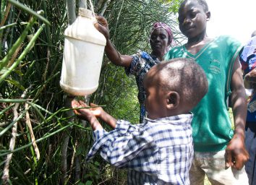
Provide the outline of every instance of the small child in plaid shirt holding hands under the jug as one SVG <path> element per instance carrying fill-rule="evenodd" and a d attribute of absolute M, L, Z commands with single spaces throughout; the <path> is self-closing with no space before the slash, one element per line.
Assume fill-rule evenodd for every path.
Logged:
<path fill-rule="evenodd" d="M 153 66 L 144 87 L 148 118 L 143 124 L 116 121 L 102 108 L 74 110 L 94 130 L 88 159 L 100 150 L 112 165 L 128 168 L 128 184 L 189 184 L 193 156 L 189 111 L 208 90 L 205 74 L 192 59 L 173 59 Z M 81 106 L 86 105 L 72 101 L 73 108 Z M 96 117 L 114 130 L 103 130 Z"/>

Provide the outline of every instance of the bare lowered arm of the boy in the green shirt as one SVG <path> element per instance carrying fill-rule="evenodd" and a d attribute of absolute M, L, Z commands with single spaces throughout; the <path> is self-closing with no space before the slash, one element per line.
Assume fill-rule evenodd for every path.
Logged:
<path fill-rule="evenodd" d="M 231 107 L 234 113 L 234 137 L 226 147 L 226 167 L 240 170 L 249 155 L 244 147 L 244 127 L 247 116 L 247 100 L 239 57 L 236 58 L 231 77 Z"/>

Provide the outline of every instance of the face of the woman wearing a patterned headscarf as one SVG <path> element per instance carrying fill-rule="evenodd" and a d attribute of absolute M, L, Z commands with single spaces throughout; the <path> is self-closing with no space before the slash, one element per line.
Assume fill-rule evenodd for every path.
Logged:
<path fill-rule="evenodd" d="M 157 28 L 153 31 L 153 33 L 151 33 L 150 46 L 152 48 L 152 53 L 155 56 L 160 56 L 162 58 L 169 45 L 168 33 L 166 30 L 163 28 Z"/>

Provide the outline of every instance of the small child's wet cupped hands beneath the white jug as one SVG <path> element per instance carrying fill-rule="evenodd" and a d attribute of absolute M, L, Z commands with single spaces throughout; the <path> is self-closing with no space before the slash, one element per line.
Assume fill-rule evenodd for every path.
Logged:
<path fill-rule="evenodd" d="M 82 101 L 77 102 L 77 100 L 72 100 L 72 108 L 81 108 L 81 109 L 74 109 L 74 113 L 79 116 L 81 119 L 85 119 L 89 121 L 90 126 L 95 129 L 103 129 L 101 124 L 98 122 L 95 116 L 101 115 L 102 108 L 86 108 L 88 107 Z M 93 104 L 93 106 L 96 106 Z M 92 109 L 92 111 L 91 111 Z M 94 109 L 94 110 L 93 110 Z M 95 113 L 95 114 L 94 114 Z"/>

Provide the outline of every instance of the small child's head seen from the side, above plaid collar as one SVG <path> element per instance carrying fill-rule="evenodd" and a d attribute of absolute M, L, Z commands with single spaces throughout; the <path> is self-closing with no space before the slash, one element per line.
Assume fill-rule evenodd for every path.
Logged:
<path fill-rule="evenodd" d="M 208 91 L 202 68 L 192 59 L 172 59 L 153 66 L 144 79 L 148 118 L 188 113 Z"/>

